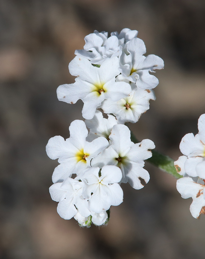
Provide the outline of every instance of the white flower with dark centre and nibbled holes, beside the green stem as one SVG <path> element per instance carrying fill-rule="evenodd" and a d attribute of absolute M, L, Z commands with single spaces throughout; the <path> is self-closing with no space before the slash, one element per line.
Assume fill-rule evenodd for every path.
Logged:
<path fill-rule="evenodd" d="M 149 181 L 149 173 L 143 169 L 144 160 L 152 156 L 150 149 L 155 148 L 154 142 L 144 139 L 134 144 L 130 139 L 130 130 L 127 126 L 114 125 L 109 136 L 112 145 L 104 149 L 92 161 L 92 166 L 103 167 L 104 165 L 118 166 L 123 173 L 123 183 L 130 183 L 134 189 L 141 189 L 144 185 L 140 178 Z"/>

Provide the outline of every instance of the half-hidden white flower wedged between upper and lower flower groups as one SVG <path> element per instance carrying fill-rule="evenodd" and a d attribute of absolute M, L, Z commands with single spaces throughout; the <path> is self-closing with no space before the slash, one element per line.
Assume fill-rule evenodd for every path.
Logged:
<path fill-rule="evenodd" d="M 117 119 L 110 114 L 108 114 L 108 119 L 105 119 L 102 112 L 96 110 L 93 119 L 85 120 L 85 124 L 90 129 L 87 141 L 92 141 L 100 136 L 109 139 L 112 127 L 117 124 Z"/>

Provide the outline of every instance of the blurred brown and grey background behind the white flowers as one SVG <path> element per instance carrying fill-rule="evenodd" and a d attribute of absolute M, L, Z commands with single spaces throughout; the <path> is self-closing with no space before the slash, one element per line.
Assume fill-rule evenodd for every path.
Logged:
<path fill-rule="evenodd" d="M 139 140 L 177 160 L 179 143 L 205 113 L 204 0 L 1 0 L 0 258 L 204 258 L 205 216 L 192 218 L 176 179 L 146 163 L 142 190 L 122 184 L 124 202 L 106 227 L 80 228 L 56 212 L 48 188 L 57 161 L 45 146 L 69 137 L 82 102 L 59 102 L 58 85 L 73 83 L 68 64 L 84 37 L 138 30 L 147 54 L 164 59 L 156 101 L 130 124 Z"/>

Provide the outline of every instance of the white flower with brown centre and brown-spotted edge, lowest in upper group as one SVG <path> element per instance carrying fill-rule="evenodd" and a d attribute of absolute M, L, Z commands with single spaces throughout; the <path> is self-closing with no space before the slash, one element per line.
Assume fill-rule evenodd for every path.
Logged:
<path fill-rule="evenodd" d="M 131 84 L 132 89 L 134 88 L 133 84 Z M 105 113 L 114 114 L 119 124 L 125 124 L 126 122 L 135 123 L 139 120 L 141 114 L 149 109 L 150 99 L 156 99 L 153 90 L 143 90 L 135 85 L 130 96 L 117 102 L 106 99 L 103 101 L 101 108 Z"/>

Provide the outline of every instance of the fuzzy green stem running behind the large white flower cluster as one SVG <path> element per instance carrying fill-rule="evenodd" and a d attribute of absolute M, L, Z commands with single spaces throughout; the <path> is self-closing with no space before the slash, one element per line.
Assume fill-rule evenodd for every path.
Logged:
<path fill-rule="evenodd" d="M 132 132 L 131 132 L 131 140 L 134 143 L 139 143 L 139 141 L 135 138 Z M 163 155 L 156 150 L 152 150 L 152 157 L 147 159 L 147 161 L 153 164 L 154 166 L 160 168 L 162 171 L 167 172 L 168 174 L 174 176 L 177 179 L 182 177 L 180 174 L 178 174 L 174 166 L 174 160 L 171 157 Z"/>

